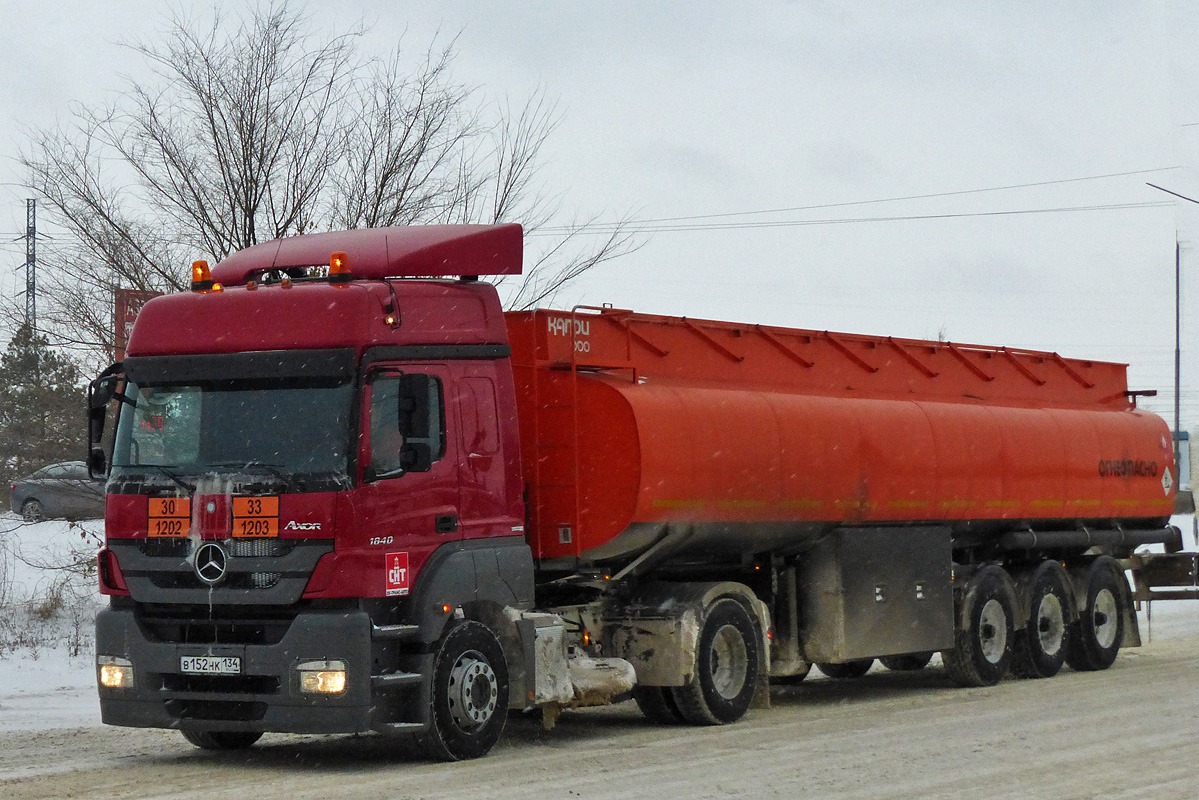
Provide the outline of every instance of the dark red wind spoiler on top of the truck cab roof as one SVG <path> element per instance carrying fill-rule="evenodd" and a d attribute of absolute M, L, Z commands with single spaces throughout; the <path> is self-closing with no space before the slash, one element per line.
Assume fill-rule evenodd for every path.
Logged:
<path fill-rule="evenodd" d="M 345 253 L 356 278 L 520 275 L 519 224 L 362 228 L 275 239 L 237 251 L 212 267 L 212 279 L 237 285 L 269 270 L 327 265 Z"/>

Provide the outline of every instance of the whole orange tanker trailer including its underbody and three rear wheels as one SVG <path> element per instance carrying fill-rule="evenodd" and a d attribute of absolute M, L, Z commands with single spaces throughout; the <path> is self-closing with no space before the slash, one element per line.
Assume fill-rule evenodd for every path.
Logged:
<path fill-rule="evenodd" d="M 685 638 L 687 582 L 766 606 L 761 675 L 940 650 L 982 685 L 1109 666 L 1139 643 L 1133 548 L 1181 548 L 1170 432 L 1125 365 L 607 307 L 506 317 L 543 593 L 591 576 L 622 596 L 590 625 L 650 716 L 704 716 L 677 688 L 692 675 L 644 655 Z"/>

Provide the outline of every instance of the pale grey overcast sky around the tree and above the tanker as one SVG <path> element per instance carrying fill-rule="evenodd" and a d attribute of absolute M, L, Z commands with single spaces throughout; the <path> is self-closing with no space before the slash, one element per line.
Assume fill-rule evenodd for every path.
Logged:
<path fill-rule="evenodd" d="M 1199 206 L 1145 186 L 1199 198 L 1199 4 L 311 6 L 331 32 L 364 22 L 379 54 L 460 32 L 457 77 L 490 96 L 543 86 L 568 215 L 737 215 L 647 234 L 559 306 L 1123 361 L 1170 416 L 1177 230 L 1199 427 Z M 119 89 L 141 66 L 118 43 L 162 25 L 158 2 L 0 0 L 2 241 L 24 229 L 19 124 Z M 862 203 L 972 190 L 996 191 Z M 6 294 L 23 261 L 0 247 Z"/>

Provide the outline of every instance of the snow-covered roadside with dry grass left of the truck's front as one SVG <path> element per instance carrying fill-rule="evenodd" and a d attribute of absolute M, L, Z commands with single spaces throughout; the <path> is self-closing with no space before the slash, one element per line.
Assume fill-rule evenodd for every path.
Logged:
<path fill-rule="evenodd" d="M 103 527 L 0 516 L 0 733 L 100 724 L 92 620 Z"/>

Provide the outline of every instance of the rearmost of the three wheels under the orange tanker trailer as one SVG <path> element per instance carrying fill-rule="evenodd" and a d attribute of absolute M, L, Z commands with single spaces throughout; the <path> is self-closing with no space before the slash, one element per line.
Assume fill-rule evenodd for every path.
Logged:
<path fill-rule="evenodd" d="M 1115 559 L 1095 559 L 1086 571 L 1086 602 L 1070 628 L 1066 663 L 1079 672 L 1107 669 L 1123 644 L 1127 584 Z"/>

